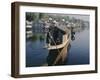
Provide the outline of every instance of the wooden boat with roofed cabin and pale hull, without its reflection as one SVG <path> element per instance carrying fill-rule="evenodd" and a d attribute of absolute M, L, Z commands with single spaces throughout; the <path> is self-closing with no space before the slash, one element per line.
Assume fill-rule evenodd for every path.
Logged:
<path fill-rule="evenodd" d="M 70 30 L 65 26 L 53 26 L 47 33 L 47 45 L 45 48 L 48 50 L 61 49 L 70 41 Z M 57 41 L 58 40 L 58 41 Z"/>

